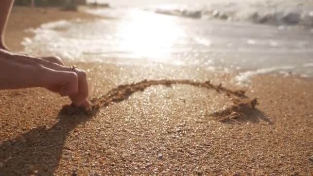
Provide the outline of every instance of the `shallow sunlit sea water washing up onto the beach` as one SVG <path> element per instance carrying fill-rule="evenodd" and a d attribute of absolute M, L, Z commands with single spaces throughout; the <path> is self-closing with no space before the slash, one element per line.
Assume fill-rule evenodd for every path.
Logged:
<path fill-rule="evenodd" d="M 277 17 L 269 25 L 248 19 L 205 19 L 203 8 L 193 12 L 196 5 L 142 3 L 135 7 L 115 3 L 111 8 L 87 10 L 103 19 L 62 20 L 28 29 L 34 37 L 24 39 L 25 52 L 83 62 L 156 62 L 236 69 L 238 81 L 271 72 L 313 76 L 313 31 L 309 23 L 301 22 L 303 14 L 310 15 L 306 6 L 302 9 L 297 6 L 303 17 L 297 23 L 279 22 Z M 239 11 L 244 5 L 235 8 L 227 3 L 219 8 L 232 7 Z M 184 10 L 178 10 L 183 6 Z M 228 16 L 235 19 L 236 14 Z"/>

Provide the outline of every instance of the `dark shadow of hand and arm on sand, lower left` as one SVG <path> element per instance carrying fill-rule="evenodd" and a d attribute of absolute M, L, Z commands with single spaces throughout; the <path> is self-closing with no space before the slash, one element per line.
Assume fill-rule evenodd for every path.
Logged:
<path fill-rule="evenodd" d="M 54 126 L 41 126 L 3 142 L 0 146 L 1 175 L 53 175 L 68 133 L 93 116 L 69 117 L 59 113 Z"/>

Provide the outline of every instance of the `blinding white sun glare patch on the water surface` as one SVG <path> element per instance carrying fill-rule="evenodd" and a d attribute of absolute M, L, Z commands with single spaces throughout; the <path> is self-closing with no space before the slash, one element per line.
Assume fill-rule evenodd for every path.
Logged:
<path fill-rule="evenodd" d="M 118 28 L 120 50 L 134 57 L 164 61 L 169 58 L 172 46 L 182 36 L 175 19 L 145 11 L 131 12 L 131 21 Z"/>

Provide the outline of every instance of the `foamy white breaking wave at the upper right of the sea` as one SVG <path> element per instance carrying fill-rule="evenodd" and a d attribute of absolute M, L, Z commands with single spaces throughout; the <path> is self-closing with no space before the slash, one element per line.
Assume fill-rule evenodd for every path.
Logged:
<path fill-rule="evenodd" d="M 155 13 L 190 17 L 202 20 L 248 21 L 272 25 L 302 25 L 313 27 L 313 8 L 286 6 L 256 6 L 256 5 L 166 5 L 148 8 Z"/>

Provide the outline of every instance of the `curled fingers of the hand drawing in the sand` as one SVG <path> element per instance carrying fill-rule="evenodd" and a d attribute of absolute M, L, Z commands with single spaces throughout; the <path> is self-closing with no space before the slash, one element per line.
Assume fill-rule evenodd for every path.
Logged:
<path fill-rule="evenodd" d="M 91 103 L 87 99 L 89 87 L 85 71 L 78 68 L 71 71 L 71 68 L 66 67 L 62 59 L 59 57 L 41 58 L 55 64 L 47 65 L 48 67 L 55 69 L 55 71 L 61 71 L 59 74 L 52 72 L 51 75 L 47 76 L 52 82 L 46 86 L 46 89 L 59 93 L 61 96 L 69 96 L 77 107 L 81 106 L 84 108 L 90 108 Z"/>

